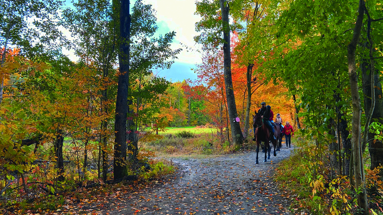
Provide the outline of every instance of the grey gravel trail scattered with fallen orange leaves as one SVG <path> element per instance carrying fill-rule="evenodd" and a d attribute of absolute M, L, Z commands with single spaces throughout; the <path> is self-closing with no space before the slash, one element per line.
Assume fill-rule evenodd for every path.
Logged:
<path fill-rule="evenodd" d="M 110 215 L 227 215 L 292 214 L 287 195 L 280 191 L 272 176 L 276 164 L 290 156 L 293 147 L 283 147 L 277 157 L 264 163 L 264 154 L 256 152 L 206 159 L 172 159 L 179 168 L 175 175 L 148 187 L 111 200 L 103 210 Z"/>

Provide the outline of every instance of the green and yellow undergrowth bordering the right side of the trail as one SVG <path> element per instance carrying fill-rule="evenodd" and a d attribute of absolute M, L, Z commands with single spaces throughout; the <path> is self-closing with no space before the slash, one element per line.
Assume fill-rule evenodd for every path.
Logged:
<path fill-rule="evenodd" d="M 347 175 L 333 175 L 329 164 L 332 153 L 326 145 L 315 140 L 292 140 L 298 145 L 289 159 L 279 163 L 275 180 L 287 191 L 290 210 L 310 215 L 351 215 L 356 213 L 356 193 Z M 380 168 L 366 168 L 369 212 L 383 215 L 381 194 L 383 183 L 379 179 Z"/>

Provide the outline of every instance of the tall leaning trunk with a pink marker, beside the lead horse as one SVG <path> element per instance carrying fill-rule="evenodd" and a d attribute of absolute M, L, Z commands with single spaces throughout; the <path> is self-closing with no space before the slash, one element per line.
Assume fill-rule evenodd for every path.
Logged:
<path fill-rule="evenodd" d="M 230 56 L 230 26 L 229 26 L 229 4 L 226 0 L 219 0 L 221 3 L 222 27 L 223 27 L 223 68 L 226 89 L 226 99 L 228 101 L 228 112 L 231 127 L 231 137 L 233 144 L 239 148 L 243 142 L 243 134 L 237 118 L 236 100 L 231 79 L 231 56 Z"/>

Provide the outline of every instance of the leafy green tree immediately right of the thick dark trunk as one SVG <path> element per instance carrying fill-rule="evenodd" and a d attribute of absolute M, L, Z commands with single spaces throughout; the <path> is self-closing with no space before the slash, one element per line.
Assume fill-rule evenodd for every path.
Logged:
<path fill-rule="evenodd" d="M 162 104 L 155 101 L 159 99 L 157 95 L 164 93 L 169 86 L 169 82 L 163 78 L 153 77 L 152 71 L 156 68 L 169 69 L 182 49 L 172 50 L 170 48 L 170 43 L 175 37 L 174 31 L 166 33 L 164 36 L 154 36 L 158 26 L 155 24 L 156 17 L 152 5 L 145 5 L 141 0 L 137 0 L 132 11 L 128 98 L 131 99 L 129 105 L 134 105 L 135 108 L 129 109 L 128 112 L 128 161 L 131 168 L 135 170 L 140 125 L 149 123 L 155 112 L 158 113 Z M 177 99 L 174 100 L 178 101 L 178 106 L 180 106 L 180 99 L 181 97 L 177 96 Z M 146 108 L 146 104 L 149 103 L 157 105 Z"/>

